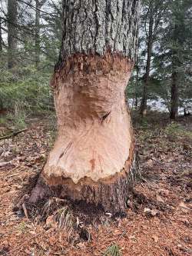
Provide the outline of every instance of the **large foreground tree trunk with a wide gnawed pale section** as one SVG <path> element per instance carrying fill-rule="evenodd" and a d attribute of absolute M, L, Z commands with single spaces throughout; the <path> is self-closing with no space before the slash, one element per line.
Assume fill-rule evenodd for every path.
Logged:
<path fill-rule="evenodd" d="M 30 202 L 51 195 L 124 211 L 137 171 L 124 89 L 137 49 L 139 1 L 63 0 L 55 66 L 58 138 Z"/>

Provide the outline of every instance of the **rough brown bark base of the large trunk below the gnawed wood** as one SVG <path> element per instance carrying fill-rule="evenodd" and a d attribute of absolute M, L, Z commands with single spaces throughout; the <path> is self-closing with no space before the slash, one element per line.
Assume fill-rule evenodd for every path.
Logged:
<path fill-rule="evenodd" d="M 131 163 L 131 164 L 130 164 Z M 83 178 L 78 184 L 65 178 L 61 185 L 48 185 L 43 173 L 38 178 L 35 188 L 31 191 L 29 203 L 46 201 L 51 197 L 68 200 L 73 205 L 90 205 L 100 208 L 104 212 L 117 214 L 127 208 L 127 198 L 134 181 L 140 176 L 138 156 L 135 153 L 128 159 L 124 170 L 113 177 L 98 182 L 90 178 Z"/>

